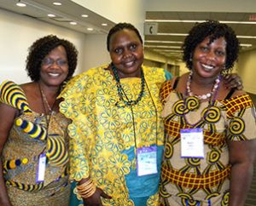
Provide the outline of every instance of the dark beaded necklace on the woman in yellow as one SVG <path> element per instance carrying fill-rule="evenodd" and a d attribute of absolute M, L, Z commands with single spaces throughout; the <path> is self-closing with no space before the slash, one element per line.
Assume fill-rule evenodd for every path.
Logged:
<path fill-rule="evenodd" d="M 140 94 L 137 97 L 137 100 L 129 100 L 127 98 L 127 95 L 125 94 L 125 90 L 123 89 L 121 83 L 120 83 L 120 79 L 119 79 L 119 75 L 117 72 L 117 69 L 115 66 L 112 65 L 112 71 L 113 71 L 113 77 L 116 81 L 116 85 L 117 85 L 117 89 L 118 89 L 118 93 L 119 93 L 119 100 L 123 101 L 125 103 L 125 106 L 135 106 L 137 105 L 137 103 L 142 100 L 143 98 L 143 94 L 145 92 L 145 77 L 144 77 L 144 73 L 143 73 L 143 69 L 142 69 L 142 74 L 141 74 L 141 79 L 142 79 L 142 89 Z M 124 98 L 125 96 L 125 98 Z M 126 100 L 125 100 L 126 99 Z M 119 106 L 119 105 L 117 105 Z M 122 106 L 121 106 L 122 107 Z"/>

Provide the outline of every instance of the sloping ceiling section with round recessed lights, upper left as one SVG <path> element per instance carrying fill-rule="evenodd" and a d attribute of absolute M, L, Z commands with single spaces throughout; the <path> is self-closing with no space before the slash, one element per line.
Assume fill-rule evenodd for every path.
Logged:
<path fill-rule="evenodd" d="M 26 7 L 16 6 L 16 3 L 19 2 L 26 3 Z M 56 6 L 53 4 L 54 2 L 62 5 Z M 70 0 L 0 0 L 0 9 L 83 33 L 108 33 L 110 28 L 114 26 L 112 21 Z M 55 17 L 49 17 L 48 14 L 55 14 Z M 87 14 L 88 17 L 82 17 L 82 14 Z M 72 25 L 70 22 L 76 22 L 77 25 Z M 102 26 L 102 24 L 107 24 L 107 26 Z M 88 28 L 93 28 L 93 30 L 88 30 Z"/>

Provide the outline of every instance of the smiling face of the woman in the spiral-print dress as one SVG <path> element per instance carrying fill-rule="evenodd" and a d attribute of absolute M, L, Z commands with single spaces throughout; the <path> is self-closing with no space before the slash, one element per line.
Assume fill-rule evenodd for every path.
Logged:
<path fill-rule="evenodd" d="M 226 41 L 219 37 L 210 43 L 210 38 L 195 47 L 193 71 L 201 77 L 216 77 L 223 70 L 226 61 Z"/>

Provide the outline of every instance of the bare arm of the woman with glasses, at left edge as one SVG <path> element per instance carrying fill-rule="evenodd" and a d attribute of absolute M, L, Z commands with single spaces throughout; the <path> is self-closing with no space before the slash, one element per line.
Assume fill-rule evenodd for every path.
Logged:
<path fill-rule="evenodd" d="M 3 180 L 2 152 L 15 119 L 15 108 L 0 103 L 0 205 L 11 206 Z"/>

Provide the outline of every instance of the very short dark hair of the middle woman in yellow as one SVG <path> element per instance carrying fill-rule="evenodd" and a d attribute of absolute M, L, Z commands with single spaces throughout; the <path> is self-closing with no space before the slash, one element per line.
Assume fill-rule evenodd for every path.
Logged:
<path fill-rule="evenodd" d="M 112 35 L 114 33 L 116 33 L 117 31 L 122 31 L 124 29 L 128 29 L 128 30 L 131 30 L 131 31 L 135 31 L 136 34 L 137 34 L 137 37 L 139 37 L 140 39 L 140 42 L 143 43 L 143 38 L 141 37 L 140 35 L 140 32 L 137 30 L 137 28 L 133 25 L 131 25 L 130 23 L 119 23 L 115 26 L 113 26 L 110 31 L 108 32 L 108 37 L 107 37 L 107 49 L 109 51 L 109 43 L 110 43 L 110 38 L 112 37 Z"/>

